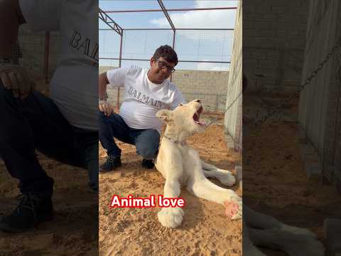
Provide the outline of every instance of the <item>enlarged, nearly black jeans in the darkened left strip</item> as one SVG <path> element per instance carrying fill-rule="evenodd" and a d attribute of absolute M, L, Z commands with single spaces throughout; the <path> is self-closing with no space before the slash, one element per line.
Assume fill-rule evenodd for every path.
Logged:
<path fill-rule="evenodd" d="M 72 127 L 53 100 L 32 92 L 13 97 L 0 81 L 0 156 L 21 193 L 52 196 L 53 178 L 40 166 L 36 149 L 51 159 L 87 169 L 90 186 L 98 188 L 98 132 Z"/>

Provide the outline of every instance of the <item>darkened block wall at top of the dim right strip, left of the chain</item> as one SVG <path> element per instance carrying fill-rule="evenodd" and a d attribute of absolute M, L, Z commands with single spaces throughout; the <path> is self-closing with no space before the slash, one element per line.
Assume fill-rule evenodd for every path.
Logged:
<path fill-rule="evenodd" d="M 244 0 L 243 70 L 248 92 L 298 89 L 307 4 L 307 0 Z"/>

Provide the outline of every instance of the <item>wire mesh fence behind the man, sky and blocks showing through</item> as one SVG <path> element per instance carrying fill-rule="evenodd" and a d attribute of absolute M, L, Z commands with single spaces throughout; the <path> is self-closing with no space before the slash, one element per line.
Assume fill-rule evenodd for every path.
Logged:
<path fill-rule="evenodd" d="M 99 72 L 130 65 L 148 68 L 150 58 L 161 45 L 173 45 L 171 30 L 124 30 L 121 60 L 120 36 L 112 30 L 99 30 Z M 176 31 L 175 51 L 179 63 L 171 80 L 186 100 L 200 98 L 206 111 L 224 111 L 232 50 L 232 30 Z M 136 42 L 139 42 L 136 44 Z M 109 100 L 118 105 L 123 91 L 111 90 Z M 119 98 L 118 98 L 119 97 Z"/>

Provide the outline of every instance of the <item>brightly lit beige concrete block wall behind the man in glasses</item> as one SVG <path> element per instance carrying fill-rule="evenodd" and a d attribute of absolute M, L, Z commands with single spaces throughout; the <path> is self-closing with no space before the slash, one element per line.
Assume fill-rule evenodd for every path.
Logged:
<path fill-rule="evenodd" d="M 99 67 L 103 73 L 112 67 Z M 226 104 L 227 71 L 176 70 L 172 82 L 183 93 L 187 101 L 200 99 L 206 111 L 223 111 Z M 117 105 L 117 89 L 108 89 L 109 101 Z M 124 100 L 120 89 L 120 99 Z"/>

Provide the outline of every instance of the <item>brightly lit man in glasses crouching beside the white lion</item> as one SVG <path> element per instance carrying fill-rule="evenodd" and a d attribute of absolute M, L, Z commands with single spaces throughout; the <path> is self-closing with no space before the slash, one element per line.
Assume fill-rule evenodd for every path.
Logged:
<path fill-rule="evenodd" d="M 178 56 L 171 46 L 156 49 L 148 70 L 131 66 L 117 68 L 99 75 L 99 140 L 107 149 L 107 161 L 99 171 L 112 171 L 121 166 L 121 149 L 114 138 L 136 145 L 142 166 L 152 169 L 158 153 L 162 122 L 156 117 L 161 109 L 175 109 L 185 98 L 168 80 L 178 64 Z M 106 101 L 107 84 L 124 87 L 124 101 L 119 114 L 113 113 Z"/>

